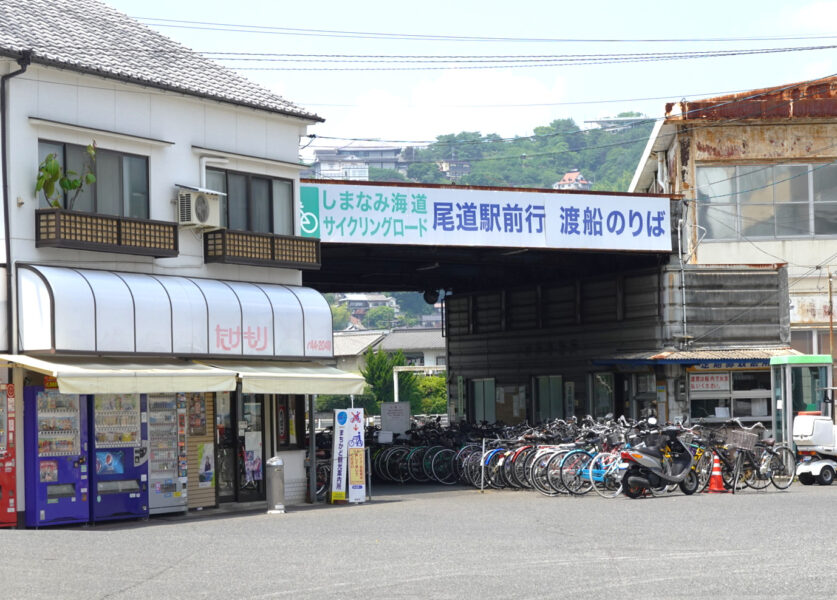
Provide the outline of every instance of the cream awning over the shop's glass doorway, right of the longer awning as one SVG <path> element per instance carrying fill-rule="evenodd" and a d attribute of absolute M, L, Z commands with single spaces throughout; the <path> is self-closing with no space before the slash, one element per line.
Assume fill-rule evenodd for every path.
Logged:
<path fill-rule="evenodd" d="M 213 361 L 235 371 L 245 394 L 362 394 L 366 380 L 354 373 L 318 363 Z"/>

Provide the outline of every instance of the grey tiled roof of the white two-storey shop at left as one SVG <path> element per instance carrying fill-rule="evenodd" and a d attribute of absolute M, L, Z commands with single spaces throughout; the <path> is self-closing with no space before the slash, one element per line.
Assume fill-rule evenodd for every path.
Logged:
<path fill-rule="evenodd" d="M 323 120 L 99 0 L 0 1 L 0 55 L 25 50 L 37 64 Z"/>

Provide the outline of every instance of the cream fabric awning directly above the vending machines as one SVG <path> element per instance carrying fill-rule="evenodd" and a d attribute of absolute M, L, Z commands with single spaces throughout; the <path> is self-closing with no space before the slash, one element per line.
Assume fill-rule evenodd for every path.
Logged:
<path fill-rule="evenodd" d="M 58 380 L 62 394 L 226 392 L 236 373 L 189 361 L 61 358 L 0 354 L 0 366 L 24 367 Z"/>

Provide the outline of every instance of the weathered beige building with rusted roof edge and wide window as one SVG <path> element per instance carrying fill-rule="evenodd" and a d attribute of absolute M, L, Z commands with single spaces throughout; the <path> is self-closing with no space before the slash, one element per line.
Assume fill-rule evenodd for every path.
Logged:
<path fill-rule="evenodd" d="M 666 105 L 632 192 L 683 195 L 691 264 L 787 263 L 791 344 L 830 345 L 837 77 Z"/>

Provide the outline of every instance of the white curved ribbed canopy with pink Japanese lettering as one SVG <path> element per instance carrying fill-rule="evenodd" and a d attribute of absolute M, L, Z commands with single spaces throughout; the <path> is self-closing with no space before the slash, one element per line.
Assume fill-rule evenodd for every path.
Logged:
<path fill-rule="evenodd" d="M 311 288 L 43 265 L 17 282 L 25 354 L 332 357 L 331 308 Z"/>

